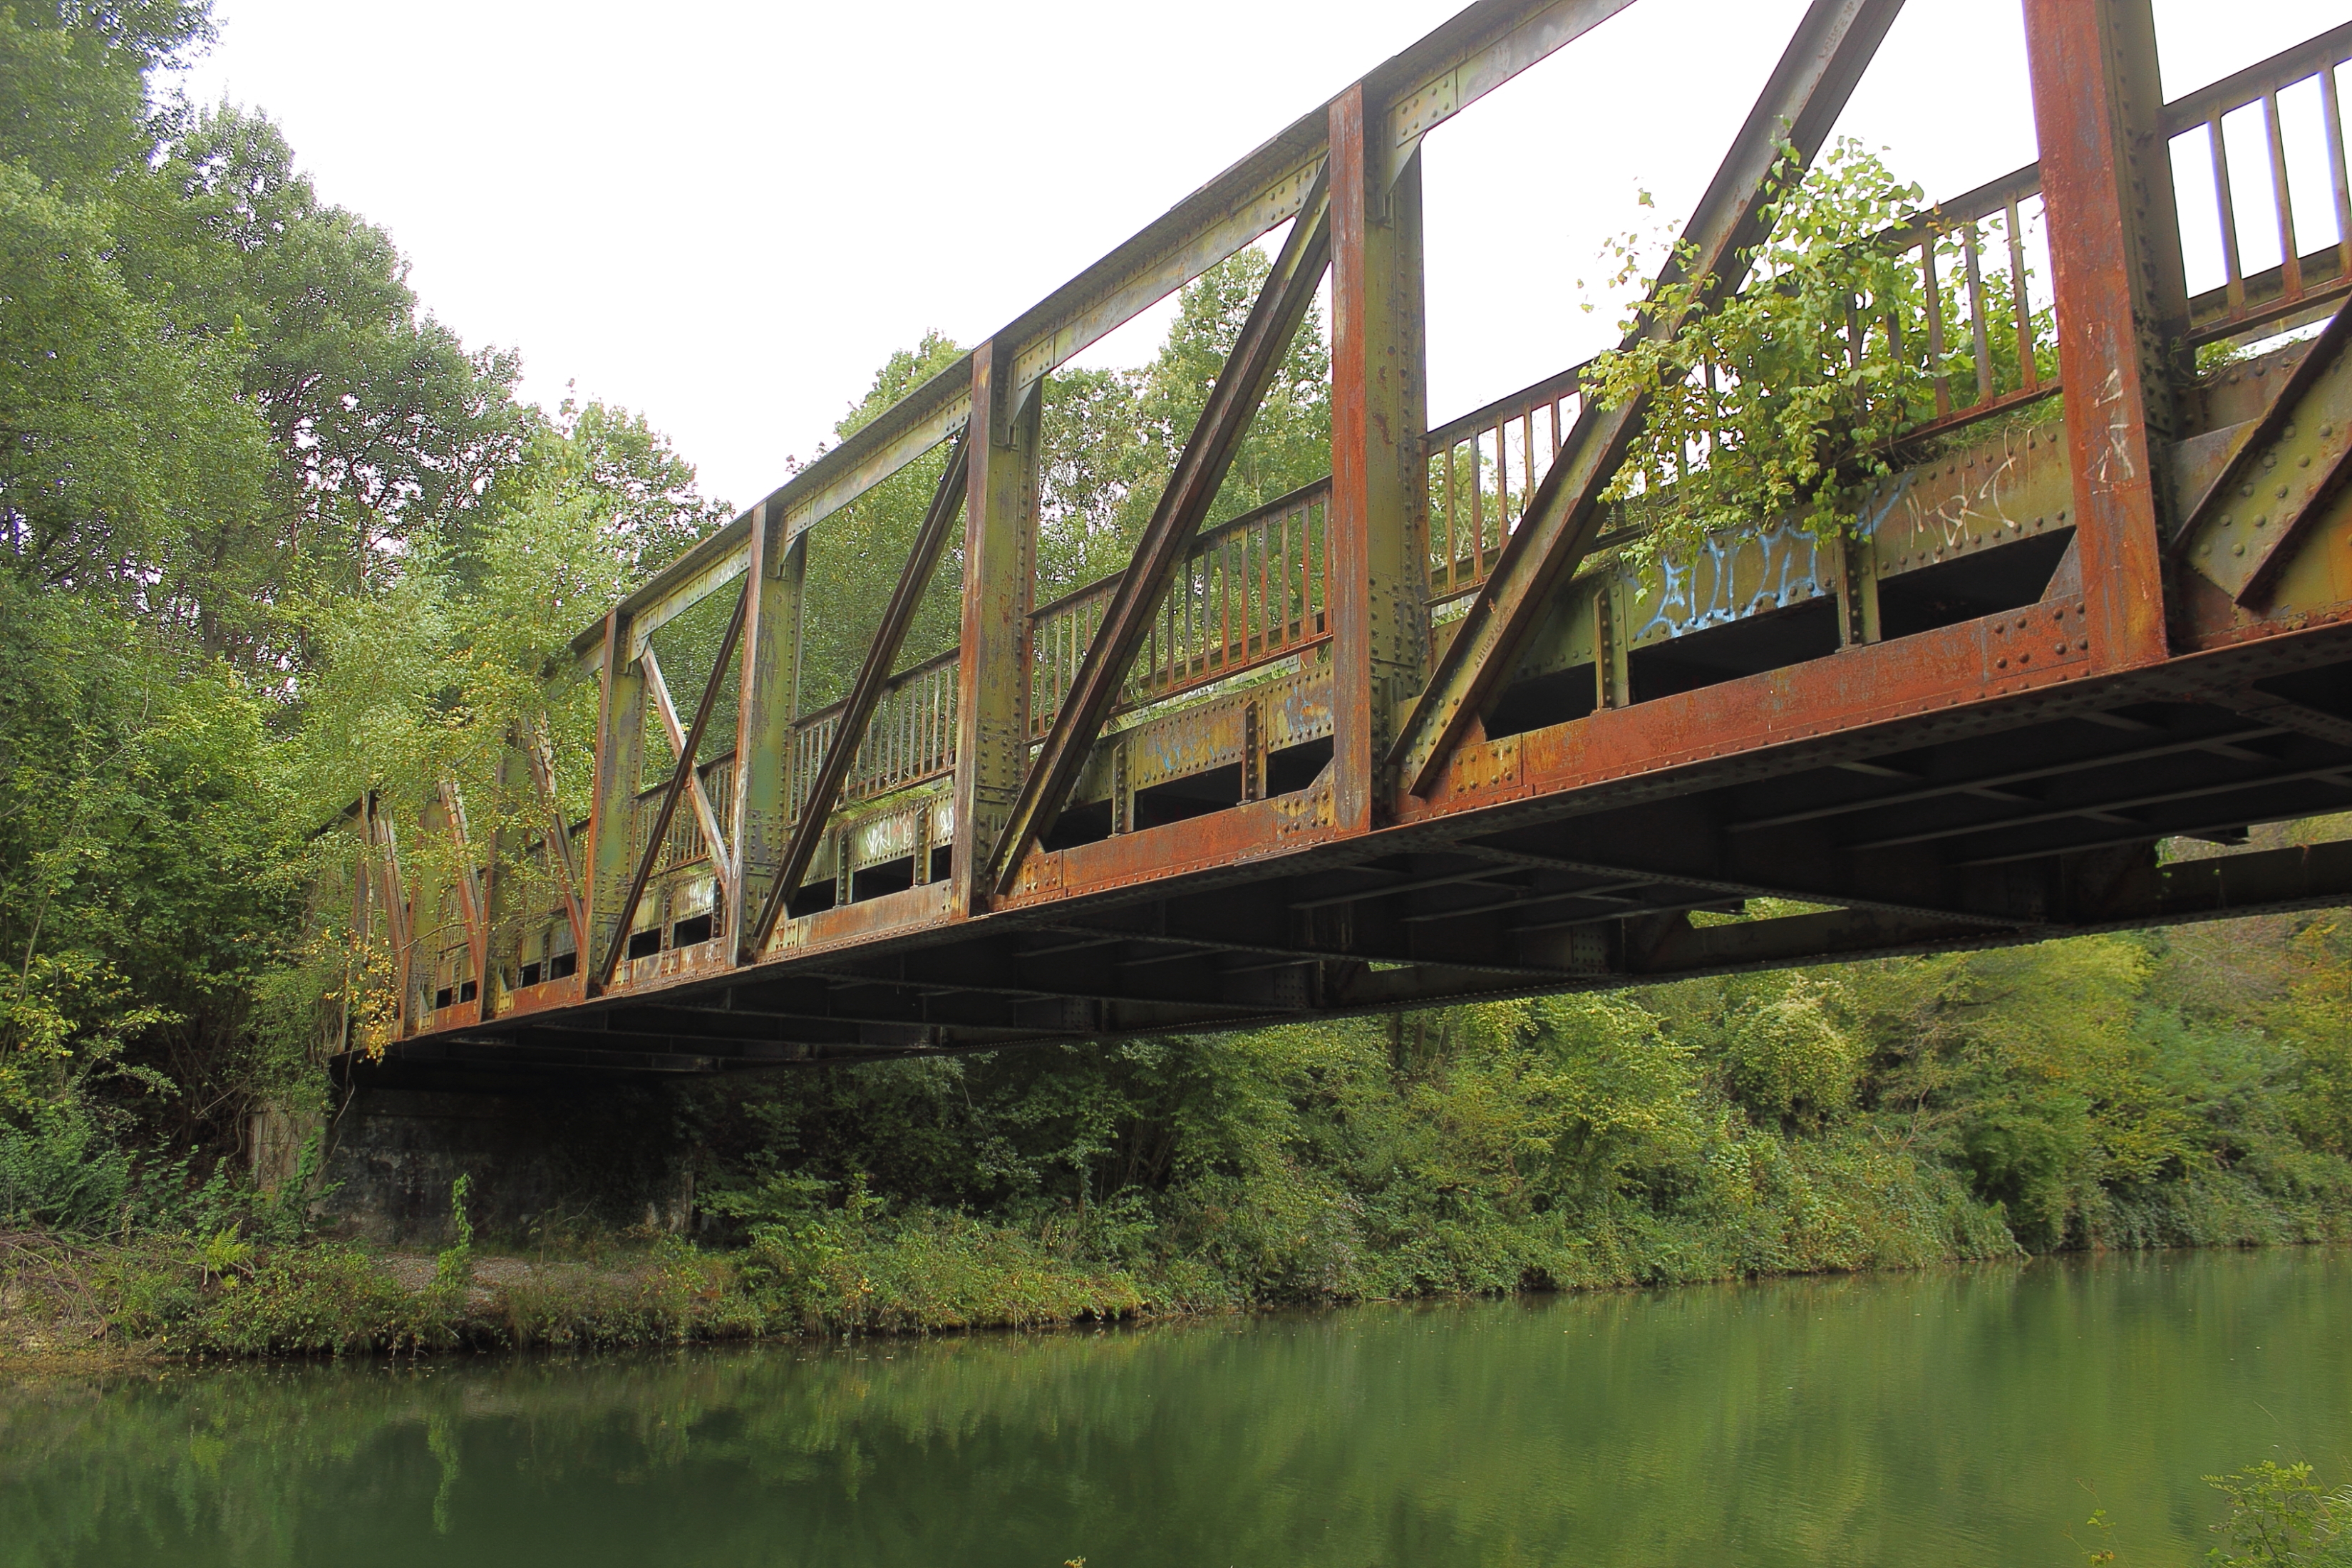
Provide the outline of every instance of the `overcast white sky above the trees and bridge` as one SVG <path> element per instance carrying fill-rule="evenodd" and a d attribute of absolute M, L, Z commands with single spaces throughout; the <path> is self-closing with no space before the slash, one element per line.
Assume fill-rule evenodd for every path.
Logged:
<path fill-rule="evenodd" d="M 282 122 L 322 197 L 393 233 L 426 308 L 522 350 L 527 397 L 576 381 L 642 409 L 746 505 L 891 348 L 985 339 L 1454 9 L 219 0 L 188 89 Z M 1644 0 L 1430 136 L 1435 418 L 1606 346 L 1616 317 L 1578 310 L 1576 280 L 1651 216 L 1639 186 L 1689 209 L 1802 9 Z M 2178 96 L 2352 0 L 2157 16 Z M 1910 0 L 1839 132 L 1929 195 L 2032 160 L 2016 0 Z M 2298 207 L 2305 249 L 2333 237 Z M 1143 362 L 1162 322 L 1087 360 Z"/>

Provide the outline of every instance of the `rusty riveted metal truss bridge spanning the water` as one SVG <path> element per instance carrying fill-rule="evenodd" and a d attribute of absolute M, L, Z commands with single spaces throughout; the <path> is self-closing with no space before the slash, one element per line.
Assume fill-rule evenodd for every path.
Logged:
<path fill-rule="evenodd" d="M 470 839 L 454 785 L 355 806 L 341 1060 L 727 1072 L 2352 903 L 2352 842 L 2230 849 L 2352 809 L 2352 24 L 2166 103 L 2150 0 L 2023 0 L 2042 160 L 1884 235 L 1907 348 L 1851 331 L 1922 355 L 1936 456 L 1851 536 L 1764 517 L 1644 574 L 1604 501 L 1642 404 L 1423 397 L 1423 136 L 1625 5 L 1479 0 L 614 607 L 562 672 L 593 755 L 515 736 L 536 830 Z M 1896 12 L 1811 5 L 1696 275 L 1745 270 L 1778 143 L 1820 150 Z M 1127 569 L 1037 604 L 1042 383 L 1282 226 Z M 1327 273 L 1331 475 L 1202 527 Z M 934 449 L 863 670 L 804 712 L 811 529 Z M 913 663 L 943 559 L 962 637 Z"/>

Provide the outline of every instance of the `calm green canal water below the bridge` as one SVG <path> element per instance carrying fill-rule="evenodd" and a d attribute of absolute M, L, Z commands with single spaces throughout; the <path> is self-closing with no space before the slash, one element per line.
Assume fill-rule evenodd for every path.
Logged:
<path fill-rule="evenodd" d="M 2352 1481 L 2352 1251 L 0 1382 L 0 1563 L 2138 1568 L 2265 1458 Z"/>

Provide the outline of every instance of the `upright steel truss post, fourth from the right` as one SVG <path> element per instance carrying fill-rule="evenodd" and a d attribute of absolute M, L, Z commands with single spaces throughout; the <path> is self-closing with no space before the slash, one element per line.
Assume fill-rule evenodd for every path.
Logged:
<path fill-rule="evenodd" d="M 781 508 L 762 501 L 750 524 L 750 599 L 743 609 L 741 701 L 736 703 L 736 788 L 729 837 L 736 846 L 727 931 L 736 964 L 753 964 L 750 924 L 793 837 L 793 719 L 800 708 L 800 590 L 809 538 L 786 541 Z"/>

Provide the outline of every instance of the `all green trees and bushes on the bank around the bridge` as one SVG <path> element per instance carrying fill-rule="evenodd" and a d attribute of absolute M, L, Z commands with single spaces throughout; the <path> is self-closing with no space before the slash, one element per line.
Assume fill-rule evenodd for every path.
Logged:
<path fill-rule="evenodd" d="M 520 402 L 515 355 L 423 313 L 266 118 L 176 101 L 207 26 L 198 0 L 0 7 L 14 1342 L 1049 1324 L 2352 1225 L 2352 952 L 2296 917 L 786 1072 L 640 1107 L 691 1164 L 687 1237 L 320 1234 L 315 1145 L 270 1194 L 245 1175 L 256 1114 L 327 1112 L 313 830 L 447 778 L 494 813 L 546 658 L 729 508 L 644 418 Z M 1879 174 L 1849 195 L 1889 200 Z M 1265 266 L 1185 289 L 1150 364 L 1056 376 L 1040 597 L 1124 557 Z M 957 353 L 894 355 L 837 433 Z M 1216 515 L 1324 473 L 1327 381 L 1310 324 Z M 927 494 L 917 465 L 818 538 L 811 691 L 854 670 Z"/>

